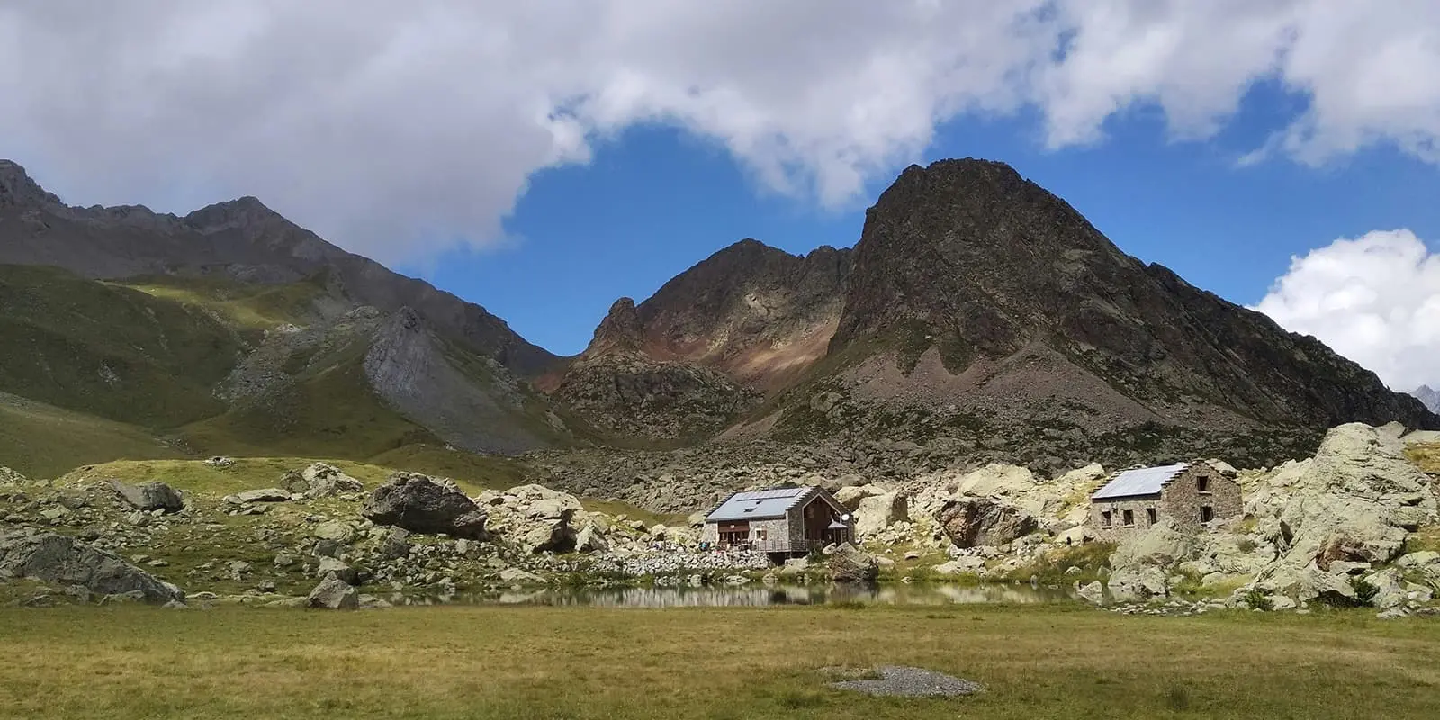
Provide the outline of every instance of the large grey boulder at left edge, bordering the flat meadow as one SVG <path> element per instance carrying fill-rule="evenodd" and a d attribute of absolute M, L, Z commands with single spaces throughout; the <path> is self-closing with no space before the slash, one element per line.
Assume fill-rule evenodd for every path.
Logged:
<path fill-rule="evenodd" d="M 118 554 L 52 533 L 0 534 L 0 576 L 79 585 L 101 595 L 138 593 L 154 603 L 184 599 L 179 588 Z"/>

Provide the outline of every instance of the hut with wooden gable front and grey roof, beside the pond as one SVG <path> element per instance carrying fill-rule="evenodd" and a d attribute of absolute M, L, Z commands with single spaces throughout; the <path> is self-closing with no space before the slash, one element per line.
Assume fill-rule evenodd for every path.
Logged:
<path fill-rule="evenodd" d="M 724 550 L 804 554 L 855 536 L 854 517 L 824 488 L 734 492 L 706 516 L 700 541 Z"/>

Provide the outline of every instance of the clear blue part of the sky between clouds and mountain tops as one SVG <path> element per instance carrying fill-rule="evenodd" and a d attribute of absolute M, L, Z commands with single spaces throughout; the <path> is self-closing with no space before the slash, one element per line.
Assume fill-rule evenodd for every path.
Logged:
<path fill-rule="evenodd" d="M 1169 138 L 1140 108 L 1106 122 L 1106 138 L 1047 150 L 1040 120 L 960 118 L 939 128 L 923 163 L 984 157 L 1064 197 L 1125 252 L 1189 282 L 1254 304 L 1290 265 L 1338 238 L 1408 228 L 1440 238 L 1440 173 L 1377 147 L 1319 167 L 1238 158 L 1273 132 L 1292 98 L 1253 89 L 1236 120 L 1200 141 Z M 649 124 L 598 144 L 589 164 L 537 173 L 505 228 L 508 245 L 452 251 L 402 269 L 485 305 L 554 353 L 585 348 L 609 304 L 644 300 L 667 279 L 742 238 L 805 253 L 851 246 L 864 210 L 903 166 L 841 209 L 766 190 L 717 143 Z"/>

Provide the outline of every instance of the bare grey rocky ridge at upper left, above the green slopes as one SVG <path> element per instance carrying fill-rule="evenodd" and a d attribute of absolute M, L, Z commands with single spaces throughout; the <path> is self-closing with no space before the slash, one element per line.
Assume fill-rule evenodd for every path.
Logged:
<path fill-rule="evenodd" d="M 253 197 L 184 217 L 145 207 L 69 207 L 0 160 L 0 264 L 53 265 L 88 278 L 226 276 L 284 284 L 321 275 L 333 295 L 383 312 L 413 308 L 438 331 L 523 377 L 559 357 L 485 308 L 341 251 Z"/>

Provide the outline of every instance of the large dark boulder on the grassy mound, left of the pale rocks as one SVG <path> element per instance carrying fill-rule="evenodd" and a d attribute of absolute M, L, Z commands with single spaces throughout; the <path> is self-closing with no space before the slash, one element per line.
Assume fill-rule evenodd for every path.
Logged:
<path fill-rule="evenodd" d="M 485 540 L 487 514 L 458 487 L 426 475 L 396 472 L 360 510 L 372 523 L 423 534 L 448 534 Z"/>

